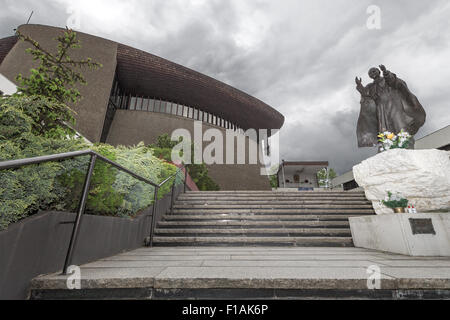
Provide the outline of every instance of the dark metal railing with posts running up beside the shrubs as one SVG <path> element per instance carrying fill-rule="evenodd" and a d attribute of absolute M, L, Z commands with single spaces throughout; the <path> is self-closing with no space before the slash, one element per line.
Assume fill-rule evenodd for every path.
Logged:
<path fill-rule="evenodd" d="M 115 163 L 114 161 L 111 161 L 102 155 L 96 153 L 92 150 L 84 150 L 84 151 L 75 151 L 75 152 L 68 152 L 68 153 L 61 153 L 61 154 L 54 154 L 54 155 L 48 155 L 48 156 L 41 156 L 41 157 L 34 157 L 34 158 L 28 158 L 28 159 L 18 159 L 18 160 L 9 160 L 9 161 L 3 161 L 0 162 L 0 170 L 7 170 L 7 169 L 17 169 L 23 166 L 33 165 L 33 164 L 41 164 L 46 162 L 52 162 L 52 161 L 62 161 L 62 160 L 68 160 L 68 159 L 74 159 L 77 157 L 82 156 L 91 156 L 89 161 L 89 167 L 86 174 L 86 178 L 84 181 L 83 191 L 80 199 L 80 204 L 78 206 L 77 214 L 75 221 L 71 221 L 70 223 L 74 224 L 74 227 L 72 229 L 72 235 L 70 237 L 69 242 L 69 248 L 67 250 L 66 259 L 64 261 L 64 267 L 63 267 L 63 274 L 67 275 L 67 269 L 71 265 L 73 253 L 76 248 L 77 238 L 80 230 L 80 223 L 81 223 L 81 217 L 84 214 L 84 211 L 86 209 L 86 203 L 88 199 L 89 194 L 89 188 L 91 185 L 92 180 L 92 174 L 94 172 L 95 163 L 97 160 L 101 160 L 103 162 L 108 163 L 109 165 L 119 169 L 120 171 L 123 171 L 130 176 L 136 178 L 137 180 L 140 180 L 142 182 L 145 182 L 155 188 L 154 191 L 154 201 L 153 201 L 153 209 L 152 209 L 152 220 L 150 224 L 150 233 L 148 238 L 145 239 L 145 244 L 147 246 L 153 246 L 153 233 L 155 229 L 155 218 L 157 213 L 157 207 L 158 207 L 158 192 L 159 189 L 162 188 L 164 185 L 166 185 L 171 179 L 174 179 L 173 185 L 172 185 L 172 196 L 171 196 L 171 205 L 170 205 L 170 211 L 173 212 L 173 202 L 174 202 L 174 192 L 175 192 L 175 183 L 176 183 L 176 177 L 179 174 L 179 172 L 183 169 L 185 169 L 185 177 L 184 177 L 184 192 L 186 192 L 186 181 L 187 181 L 187 174 L 188 170 L 187 167 L 182 166 L 180 167 L 175 174 L 161 182 L 160 184 L 156 184 L 149 179 L 146 179 L 127 168 L 121 166 L 118 163 Z"/>

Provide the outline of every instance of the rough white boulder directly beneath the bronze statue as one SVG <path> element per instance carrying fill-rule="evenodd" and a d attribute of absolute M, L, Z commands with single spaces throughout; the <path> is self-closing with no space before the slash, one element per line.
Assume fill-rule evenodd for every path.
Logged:
<path fill-rule="evenodd" d="M 450 152 L 394 149 L 353 168 L 356 182 L 377 214 L 390 214 L 381 200 L 399 192 L 419 212 L 450 212 Z"/>

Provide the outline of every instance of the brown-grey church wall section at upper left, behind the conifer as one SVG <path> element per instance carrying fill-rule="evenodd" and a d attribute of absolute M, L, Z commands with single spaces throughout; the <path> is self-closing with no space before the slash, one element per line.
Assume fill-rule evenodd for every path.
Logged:
<path fill-rule="evenodd" d="M 19 31 L 31 36 L 43 48 L 56 52 L 57 41 L 54 38 L 61 34 L 62 29 L 41 25 L 22 25 Z M 81 41 L 81 49 L 72 50 L 71 58 L 89 57 L 93 61 L 102 63 L 103 67 L 99 70 L 82 69 L 88 84 L 80 86 L 79 89 L 85 98 L 70 107 L 76 112 L 75 129 L 88 140 L 98 142 L 116 70 L 117 43 L 81 32 L 77 32 L 77 35 Z M 37 66 L 31 55 L 25 52 L 29 47 L 28 43 L 18 41 L 0 65 L 0 73 L 12 82 L 15 82 L 19 73 L 28 76 L 30 69 Z"/>

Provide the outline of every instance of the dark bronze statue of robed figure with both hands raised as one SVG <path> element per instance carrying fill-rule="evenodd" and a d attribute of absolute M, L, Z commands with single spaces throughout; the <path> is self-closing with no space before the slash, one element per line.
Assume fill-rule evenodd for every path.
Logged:
<path fill-rule="evenodd" d="M 424 125 L 426 113 L 417 97 L 409 91 L 406 82 L 380 66 L 369 70 L 372 83 L 363 86 L 356 77 L 356 90 L 361 93 L 361 113 L 358 120 L 358 146 L 374 147 L 378 134 L 389 131 L 399 133 L 402 129 L 414 136 Z M 414 148 L 412 139 L 410 148 Z"/>

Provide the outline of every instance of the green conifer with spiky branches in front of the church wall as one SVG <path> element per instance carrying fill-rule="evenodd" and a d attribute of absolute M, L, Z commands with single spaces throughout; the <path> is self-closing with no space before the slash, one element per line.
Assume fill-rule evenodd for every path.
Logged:
<path fill-rule="evenodd" d="M 91 58 L 75 60 L 69 56 L 72 49 L 81 48 L 76 32 L 66 29 L 62 35 L 55 38 L 58 41 L 57 52 L 43 48 L 31 37 L 18 33 L 18 38 L 28 42 L 32 48 L 26 51 L 33 56 L 33 60 L 40 61 L 36 69 L 30 70 L 30 76 L 19 74 L 18 92 L 26 95 L 42 95 L 58 100 L 62 103 L 77 102 L 81 99 L 77 84 L 86 85 L 86 79 L 80 72 L 82 68 L 98 69 L 102 65 L 93 62 Z"/>

